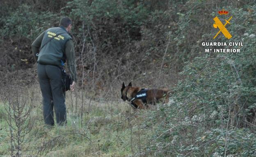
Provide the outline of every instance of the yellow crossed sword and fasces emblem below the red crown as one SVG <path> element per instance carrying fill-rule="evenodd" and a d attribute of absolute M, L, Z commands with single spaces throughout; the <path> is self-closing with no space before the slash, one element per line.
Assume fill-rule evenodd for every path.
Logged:
<path fill-rule="evenodd" d="M 219 35 L 220 32 L 222 32 L 226 38 L 228 38 L 228 39 L 232 38 L 232 35 L 229 33 L 229 31 L 225 27 L 227 24 L 230 24 L 229 21 L 231 20 L 231 18 L 232 18 L 232 16 L 229 18 L 229 20 L 225 20 L 226 23 L 224 25 L 222 24 L 222 22 L 219 20 L 219 18 L 217 16 L 215 18 L 213 18 L 213 20 L 215 21 L 215 23 L 213 24 L 213 27 L 215 29 L 219 28 L 218 33 L 213 37 L 213 39 L 215 39 Z"/>

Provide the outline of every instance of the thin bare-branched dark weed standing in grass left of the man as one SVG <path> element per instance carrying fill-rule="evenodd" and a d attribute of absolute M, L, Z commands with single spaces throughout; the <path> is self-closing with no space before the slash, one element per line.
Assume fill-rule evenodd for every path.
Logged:
<path fill-rule="evenodd" d="M 25 150 L 23 148 L 25 136 L 33 126 L 30 121 L 30 112 L 35 98 L 34 91 L 12 84 L 1 93 L 7 112 L 6 128 L 10 138 L 10 155 L 21 157 L 21 152 Z"/>

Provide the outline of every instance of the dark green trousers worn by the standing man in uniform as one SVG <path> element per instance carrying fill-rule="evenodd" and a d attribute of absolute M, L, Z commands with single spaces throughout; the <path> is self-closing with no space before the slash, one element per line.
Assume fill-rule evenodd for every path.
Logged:
<path fill-rule="evenodd" d="M 55 65 L 37 64 L 37 75 L 43 96 L 45 124 L 54 125 L 53 108 L 58 125 L 66 124 L 65 92 L 62 90 L 62 72 Z"/>

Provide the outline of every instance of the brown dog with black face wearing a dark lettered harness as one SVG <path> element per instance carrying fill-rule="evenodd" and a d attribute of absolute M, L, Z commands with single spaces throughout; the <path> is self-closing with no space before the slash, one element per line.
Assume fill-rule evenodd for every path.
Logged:
<path fill-rule="evenodd" d="M 156 102 L 163 100 L 164 103 L 169 101 L 169 90 L 166 89 L 144 89 L 133 87 L 130 82 L 128 86 L 121 88 L 121 98 L 123 101 L 128 100 L 134 108 L 145 108 L 147 104 L 155 105 Z"/>

